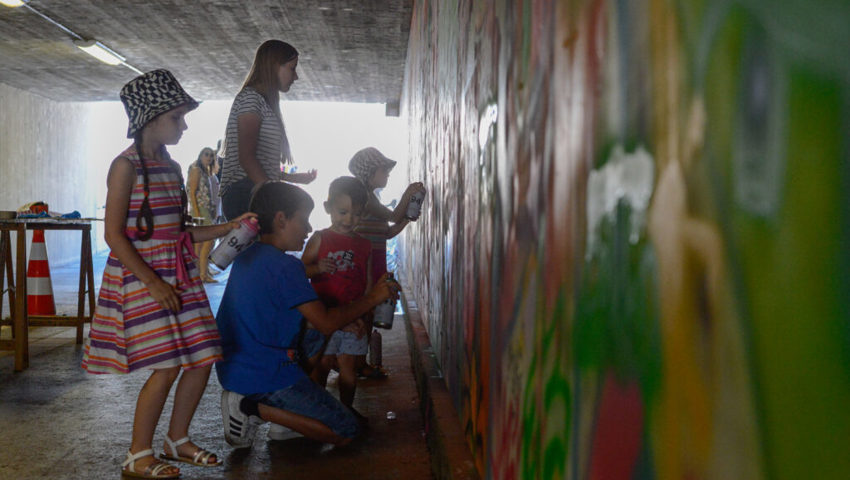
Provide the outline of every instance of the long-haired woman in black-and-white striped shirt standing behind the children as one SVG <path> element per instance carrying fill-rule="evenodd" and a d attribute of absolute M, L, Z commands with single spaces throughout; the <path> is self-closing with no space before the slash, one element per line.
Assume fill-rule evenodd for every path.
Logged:
<path fill-rule="evenodd" d="M 280 92 L 298 79 L 298 51 L 280 40 L 257 49 L 242 90 L 233 100 L 224 140 L 221 175 L 222 210 L 227 219 L 248 211 L 254 187 L 269 180 L 310 183 L 316 171 L 284 173 L 292 153 L 280 112 Z"/>

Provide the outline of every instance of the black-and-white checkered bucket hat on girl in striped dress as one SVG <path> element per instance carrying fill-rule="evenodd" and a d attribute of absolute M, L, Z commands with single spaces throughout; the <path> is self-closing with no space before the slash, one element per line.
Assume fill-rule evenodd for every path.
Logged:
<path fill-rule="evenodd" d="M 153 70 L 130 80 L 121 88 L 120 96 L 130 119 L 127 138 L 133 138 L 157 115 L 172 108 L 181 105 L 189 105 L 191 110 L 198 108 L 198 101 L 189 96 L 174 75 L 165 69 Z"/>

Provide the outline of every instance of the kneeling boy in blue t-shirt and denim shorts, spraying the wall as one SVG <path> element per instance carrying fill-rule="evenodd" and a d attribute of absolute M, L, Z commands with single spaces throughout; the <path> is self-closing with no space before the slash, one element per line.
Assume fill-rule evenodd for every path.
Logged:
<path fill-rule="evenodd" d="M 313 200 L 300 188 L 263 184 L 251 200 L 259 241 L 233 262 L 216 316 L 224 360 L 216 373 L 224 391 L 224 436 L 236 448 L 250 447 L 264 421 L 308 438 L 344 445 L 358 433 L 351 411 L 314 383 L 299 366 L 304 321 L 330 335 L 362 316 L 399 286 L 380 281 L 366 295 L 327 309 L 307 280 L 304 265 L 287 251 L 300 251 L 310 233 Z"/>

